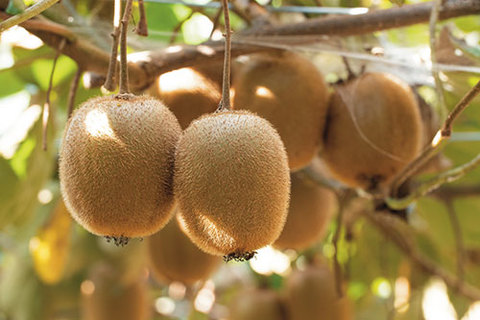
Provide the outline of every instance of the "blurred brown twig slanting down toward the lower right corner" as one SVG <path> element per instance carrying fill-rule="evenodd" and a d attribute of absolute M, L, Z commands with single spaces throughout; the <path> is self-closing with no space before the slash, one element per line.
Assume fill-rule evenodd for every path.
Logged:
<path fill-rule="evenodd" d="M 386 238 L 395 243 L 410 261 L 421 270 L 439 277 L 447 284 L 447 286 L 456 290 L 458 294 L 473 301 L 480 300 L 479 288 L 476 288 L 465 281 L 461 281 L 458 277 L 438 266 L 437 263 L 419 252 L 414 242 L 406 241 L 411 239 L 405 239 L 405 234 L 400 232 L 398 224 L 404 224 L 400 219 L 393 217 L 388 213 L 370 212 L 368 210 L 365 210 L 364 214 L 373 225 L 378 227 Z"/>

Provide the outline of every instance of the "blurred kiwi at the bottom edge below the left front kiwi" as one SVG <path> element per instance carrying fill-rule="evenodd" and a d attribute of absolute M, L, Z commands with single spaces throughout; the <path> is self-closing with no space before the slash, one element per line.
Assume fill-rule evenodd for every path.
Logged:
<path fill-rule="evenodd" d="M 82 320 L 147 320 L 150 319 L 149 293 L 146 279 L 125 284 L 118 281 L 118 272 L 109 264 L 92 268 L 81 285 Z"/>

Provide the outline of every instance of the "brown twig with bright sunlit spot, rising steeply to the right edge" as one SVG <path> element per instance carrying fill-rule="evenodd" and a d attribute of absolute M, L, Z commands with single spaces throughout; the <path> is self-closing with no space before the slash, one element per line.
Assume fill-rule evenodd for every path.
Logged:
<path fill-rule="evenodd" d="M 422 153 L 410 162 L 393 180 L 391 184 L 391 194 L 393 197 L 398 195 L 398 190 L 401 185 L 407 181 L 412 175 L 418 172 L 424 164 L 428 162 L 435 154 L 437 154 L 442 147 L 445 145 L 445 142 L 452 135 L 452 125 L 455 119 L 469 106 L 470 102 L 480 93 L 480 81 L 478 81 L 466 94 L 465 96 L 457 103 L 455 108 L 449 113 L 445 122 L 443 123 L 442 128 L 437 132 L 435 137 L 432 140 L 432 143 L 429 144 Z"/>

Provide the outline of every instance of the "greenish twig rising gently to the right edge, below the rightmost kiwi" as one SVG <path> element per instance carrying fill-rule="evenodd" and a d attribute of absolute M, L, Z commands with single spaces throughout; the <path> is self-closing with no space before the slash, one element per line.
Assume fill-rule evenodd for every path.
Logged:
<path fill-rule="evenodd" d="M 480 154 L 473 158 L 471 161 L 454 169 L 443 172 L 438 176 L 432 178 L 431 180 L 420 184 L 408 196 L 400 199 L 388 197 L 385 199 L 385 203 L 394 210 L 406 209 L 410 204 L 432 192 L 433 190 L 437 189 L 441 185 L 458 180 L 479 166 Z"/>

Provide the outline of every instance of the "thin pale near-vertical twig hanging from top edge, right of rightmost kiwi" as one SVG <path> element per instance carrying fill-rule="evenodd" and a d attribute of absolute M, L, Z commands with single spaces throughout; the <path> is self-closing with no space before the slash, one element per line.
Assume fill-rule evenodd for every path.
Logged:
<path fill-rule="evenodd" d="M 439 110 L 440 110 L 440 119 L 445 119 L 448 114 L 448 109 L 445 103 L 445 95 L 443 93 L 443 83 L 440 79 L 440 73 L 436 67 L 437 65 L 437 37 L 436 37 L 436 28 L 437 28 L 437 21 L 438 15 L 440 13 L 440 9 L 442 8 L 442 0 L 434 0 L 432 12 L 430 14 L 430 61 L 432 63 L 432 74 L 435 80 L 435 91 L 437 91 L 437 97 L 439 102 Z"/>

